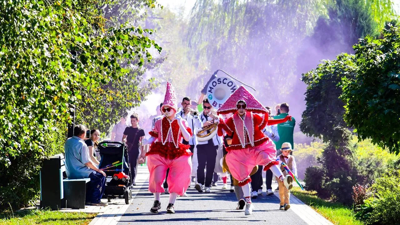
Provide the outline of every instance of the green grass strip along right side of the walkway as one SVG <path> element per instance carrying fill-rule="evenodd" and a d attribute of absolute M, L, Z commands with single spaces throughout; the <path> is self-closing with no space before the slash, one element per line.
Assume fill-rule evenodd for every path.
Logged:
<path fill-rule="evenodd" d="M 290 190 L 294 196 L 309 205 L 323 217 L 337 225 L 363 225 L 354 217 L 352 209 L 340 203 L 333 203 L 320 199 L 315 192 L 302 191 L 300 187 L 293 187 Z"/>

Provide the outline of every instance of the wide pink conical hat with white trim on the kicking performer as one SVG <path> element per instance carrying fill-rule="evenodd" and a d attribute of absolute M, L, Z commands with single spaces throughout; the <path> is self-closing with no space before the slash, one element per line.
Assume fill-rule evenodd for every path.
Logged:
<path fill-rule="evenodd" d="M 217 110 L 217 114 L 228 114 L 230 112 L 236 112 L 238 108 L 236 105 L 242 100 L 246 102 L 246 109 L 250 112 L 267 112 L 264 106 L 248 91 L 244 86 L 240 86 L 233 92 L 233 94 L 226 99 L 224 104 Z"/>

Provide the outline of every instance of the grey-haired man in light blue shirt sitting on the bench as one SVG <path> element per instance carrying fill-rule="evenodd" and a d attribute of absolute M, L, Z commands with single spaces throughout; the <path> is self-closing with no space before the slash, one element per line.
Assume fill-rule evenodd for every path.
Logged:
<path fill-rule="evenodd" d="M 99 170 L 90 160 L 89 148 L 83 141 L 87 128 L 84 125 L 74 127 L 74 136 L 65 145 L 65 170 L 70 179 L 90 178 L 86 192 L 86 202 L 91 205 L 105 206 L 100 199 L 106 185 L 106 173 Z"/>

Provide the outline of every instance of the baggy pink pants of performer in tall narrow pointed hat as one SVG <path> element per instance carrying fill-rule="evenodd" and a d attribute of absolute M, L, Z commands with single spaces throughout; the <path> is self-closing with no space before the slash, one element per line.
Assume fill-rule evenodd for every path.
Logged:
<path fill-rule="evenodd" d="M 170 168 L 167 183 L 169 193 L 183 195 L 190 185 L 192 174 L 192 159 L 190 155 L 182 155 L 176 159 L 166 159 L 158 154 L 148 155 L 147 167 L 150 172 L 149 191 L 163 193 L 164 179 L 167 169 Z"/>

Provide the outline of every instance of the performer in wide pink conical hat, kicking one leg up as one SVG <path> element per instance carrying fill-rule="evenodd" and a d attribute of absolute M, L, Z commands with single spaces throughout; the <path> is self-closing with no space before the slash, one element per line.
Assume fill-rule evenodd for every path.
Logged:
<path fill-rule="evenodd" d="M 218 125 L 218 135 L 223 131 L 232 137 L 232 143 L 226 147 L 225 160 L 232 176 L 239 181 L 246 199 L 245 215 L 252 214 L 254 205 L 250 198 L 250 173 L 254 166 L 264 165 L 264 170 L 270 169 L 276 177 L 290 189 L 292 177 L 284 177 L 275 161 L 276 148 L 274 143 L 262 133 L 266 125 L 284 123 L 291 119 L 268 119 L 268 112 L 262 104 L 246 88 L 240 86 L 218 109 L 217 114 L 234 112 L 233 117 L 222 121 Z M 262 116 L 256 113 L 261 113 Z"/>

